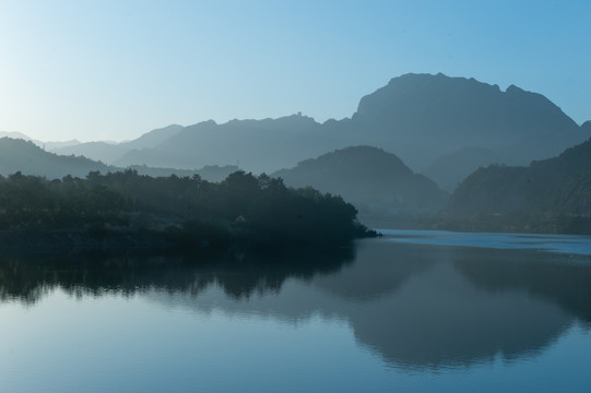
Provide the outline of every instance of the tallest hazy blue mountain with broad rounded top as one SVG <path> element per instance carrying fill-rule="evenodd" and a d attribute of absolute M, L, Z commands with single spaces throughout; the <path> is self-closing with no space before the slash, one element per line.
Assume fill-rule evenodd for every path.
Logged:
<path fill-rule="evenodd" d="M 444 74 L 392 79 L 362 98 L 352 123 L 411 167 L 468 146 L 528 165 L 590 136 L 540 94 Z"/>

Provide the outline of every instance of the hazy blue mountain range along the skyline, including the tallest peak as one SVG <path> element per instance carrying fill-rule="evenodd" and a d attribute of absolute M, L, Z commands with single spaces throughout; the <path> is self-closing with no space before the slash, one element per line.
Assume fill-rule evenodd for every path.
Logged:
<path fill-rule="evenodd" d="M 589 136 L 590 127 L 577 126 L 540 94 L 516 86 L 501 91 L 474 79 L 405 74 L 363 97 L 351 118 L 324 123 L 300 115 L 205 121 L 152 146 L 134 147 L 113 163 L 178 168 L 236 164 L 260 172 L 335 148 L 373 145 L 397 154 L 413 170 L 465 147 L 487 150 L 499 163 L 528 165 Z M 452 168 L 456 178 L 482 163 L 459 159 L 458 165 Z"/>

